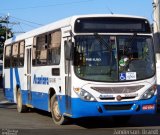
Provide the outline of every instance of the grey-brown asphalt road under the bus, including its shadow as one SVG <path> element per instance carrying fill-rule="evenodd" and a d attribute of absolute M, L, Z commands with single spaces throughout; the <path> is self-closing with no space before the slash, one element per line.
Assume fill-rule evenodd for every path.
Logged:
<path fill-rule="evenodd" d="M 50 113 L 32 109 L 18 113 L 16 105 L 7 102 L 0 90 L 0 134 L 2 135 L 132 135 L 160 134 L 160 113 L 134 116 L 128 124 L 115 123 L 111 118 L 76 119 L 68 125 L 55 125 Z"/>

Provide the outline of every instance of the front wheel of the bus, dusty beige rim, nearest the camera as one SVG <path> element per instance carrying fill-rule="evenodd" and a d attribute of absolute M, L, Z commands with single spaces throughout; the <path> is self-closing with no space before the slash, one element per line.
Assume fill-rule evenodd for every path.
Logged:
<path fill-rule="evenodd" d="M 56 125 L 66 124 L 67 119 L 60 113 L 56 95 L 53 95 L 51 97 L 51 114 L 52 114 L 53 122 Z"/>

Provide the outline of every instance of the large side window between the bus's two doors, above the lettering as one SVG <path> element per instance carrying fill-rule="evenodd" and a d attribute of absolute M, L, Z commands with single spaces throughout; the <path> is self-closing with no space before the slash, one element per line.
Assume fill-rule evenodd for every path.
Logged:
<path fill-rule="evenodd" d="M 32 63 L 34 66 L 60 63 L 61 31 L 45 33 L 34 38 Z"/>

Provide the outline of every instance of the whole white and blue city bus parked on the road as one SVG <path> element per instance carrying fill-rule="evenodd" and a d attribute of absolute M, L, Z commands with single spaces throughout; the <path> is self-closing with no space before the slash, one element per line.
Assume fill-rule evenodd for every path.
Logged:
<path fill-rule="evenodd" d="M 147 19 L 72 16 L 8 39 L 5 97 L 18 112 L 38 108 L 69 118 L 156 112 L 154 45 Z"/>

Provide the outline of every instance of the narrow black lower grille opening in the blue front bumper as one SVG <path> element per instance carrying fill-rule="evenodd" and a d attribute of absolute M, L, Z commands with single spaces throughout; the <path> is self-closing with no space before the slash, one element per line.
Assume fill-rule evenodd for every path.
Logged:
<path fill-rule="evenodd" d="M 104 108 L 108 111 L 118 111 L 118 110 L 130 110 L 133 104 L 126 105 L 104 105 Z"/>

